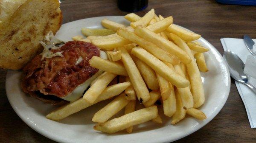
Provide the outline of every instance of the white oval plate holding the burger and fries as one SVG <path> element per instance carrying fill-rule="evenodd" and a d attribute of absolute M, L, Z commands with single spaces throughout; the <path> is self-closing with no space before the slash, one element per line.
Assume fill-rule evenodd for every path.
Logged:
<path fill-rule="evenodd" d="M 113 20 L 128 25 L 121 16 L 93 17 L 66 23 L 61 26 L 57 37 L 71 40 L 72 36 L 81 35 L 81 28 L 101 28 L 101 20 Z M 186 117 L 175 126 L 169 118 L 163 118 L 163 124 L 147 122 L 134 127 L 134 132 L 119 132 L 113 135 L 93 130 L 95 123 L 91 121 L 93 114 L 106 103 L 93 105 L 62 121 L 56 122 L 45 118 L 54 106 L 44 104 L 22 92 L 20 88 L 21 71 L 8 70 L 6 76 L 6 94 L 17 115 L 36 132 L 52 140 L 63 143 L 168 143 L 185 137 L 211 121 L 224 106 L 230 91 L 230 75 L 220 53 L 204 38 L 198 40 L 209 52 L 205 60 L 209 72 L 201 73 L 204 82 L 205 104 L 200 108 L 207 119 L 198 121 Z M 121 115 L 121 114 L 120 114 Z"/>

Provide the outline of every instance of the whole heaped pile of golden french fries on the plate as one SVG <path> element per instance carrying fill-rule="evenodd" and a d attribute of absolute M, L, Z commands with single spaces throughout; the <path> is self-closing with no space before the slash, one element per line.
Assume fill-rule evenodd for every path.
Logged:
<path fill-rule="evenodd" d="M 172 24 L 172 16 L 157 16 L 154 9 L 143 17 L 127 14 L 125 19 L 131 22 L 130 26 L 105 19 L 102 20 L 105 30 L 82 29 L 86 39 L 73 37 L 106 51 L 108 60 L 93 56 L 89 61 L 91 67 L 105 72 L 90 84 L 82 98 L 46 117 L 61 120 L 116 96 L 95 113 L 94 129 L 110 134 L 126 129 L 131 133 L 133 126 L 140 123 L 151 120 L 162 123 L 163 115 L 158 113 L 158 108 L 163 108 L 172 124 L 186 115 L 206 119 L 198 109 L 205 100 L 200 71 L 208 71 L 203 54 L 208 49 L 196 42 L 201 35 Z M 100 36 L 102 31 L 107 36 Z M 92 35 L 95 33 L 99 35 Z M 108 86 L 116 76 L 119 83 Z M 161 106 L 156 106 L 159 101 Z M 145 108 L 136 110 L 136 102 Z M 124 115 L 111 119 L 123 108 Z"/>

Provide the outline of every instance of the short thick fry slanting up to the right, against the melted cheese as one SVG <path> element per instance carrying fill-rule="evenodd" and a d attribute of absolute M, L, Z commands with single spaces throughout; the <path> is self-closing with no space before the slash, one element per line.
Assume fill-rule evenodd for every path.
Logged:
<path fill-rule="evenodd" d="M 116 74 L 105 72 L 93 85 L 84 93 L 83 99 L 93 103 L 105 90 L 108 84 L 116 77 Z"/>

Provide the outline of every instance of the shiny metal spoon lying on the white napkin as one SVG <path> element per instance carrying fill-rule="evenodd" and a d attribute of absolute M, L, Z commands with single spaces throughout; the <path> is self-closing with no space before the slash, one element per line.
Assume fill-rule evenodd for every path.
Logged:
<path fill-rule="evenodd" d="M 244 62 L 236 55 L 236 53 L 226 50 L 223 55 L 227 62 L 230 76 L 236 81 L 249 87 L 254 93 L 256 93 L 256 87 L 248 82 L 248 75 L 244 74 Z"/>

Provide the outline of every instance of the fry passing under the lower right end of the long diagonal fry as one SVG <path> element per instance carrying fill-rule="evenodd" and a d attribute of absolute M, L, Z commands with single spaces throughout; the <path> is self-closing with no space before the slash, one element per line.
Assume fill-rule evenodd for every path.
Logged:
<path fill-rule="evenodd" d="M 186 77 L 179 65 L 174 65 L 174 68 L 176 73 L 179 73 L 181 76 Z M 177 92 L 180 95 L 184 109 L 189 109 L 194 106 L 193 96 L 189 87 L 177 88 Z"/>

